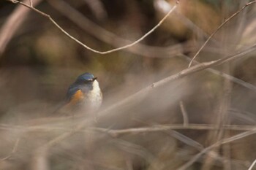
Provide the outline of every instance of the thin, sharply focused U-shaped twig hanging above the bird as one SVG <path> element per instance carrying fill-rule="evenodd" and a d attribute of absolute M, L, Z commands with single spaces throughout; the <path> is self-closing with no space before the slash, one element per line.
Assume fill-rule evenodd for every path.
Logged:
<path fill-rule="evenodd" d="M 94 53 L 98 53 L 98 54 L 108 54 L 108 53 L 113 53 L 115 51 L 118 51 L 118 50 L 123 50 L 125 48 L 128 48 L 128 47 L 132 47 L 133 45 L 136 45 L 138 42 L 141 42 L 143 39 L 146 38 L 146 36 L 148 36 L 149 34 L 151 34 L 152 32 L 154 32 L 159 26 L 162 25 L 162 23 L 166 20 L 166 18 L 173 12 L 174 9 L 176 9 L 177 7 L 177 4 L 178 4 L 178 1 L 176 3 L 176 5 L 173 6 L 172 9 L 170 9 L 170 11 L 167 13 L 167 15 L 165 15 L 164 18 L 162 18 L 162 20 L 159 21 L 159 23 L 157 23 L 156 26 L 154 26 L 154 28 L 151 28 L 150 31 L 148 31 L 146 34 L 144 34 L 143 36 L 140 37 L 140 39 L 136 40 L 135 42 L 132 42 L 131 44 L 129 45 L 124 45 L 123 47 L 118 47 L 118 48 L 115 48 L 113 50 L 108 50 L 108 51 L 103 51 L 103 52 L 100 52 L 98 50 L 94 50 L 92 49 L 91 47 L 89 47 L 88 45 L 85 45 L 83 44 L 83 42 L 80 42 L 78 39 L 76 39 L 74 36 L 70 35 L 67 31 L 64 30 L 64 28 L 61 28 L 61 26 L 59 26 L 58 23 L 56 23 L 55 20 L 53 20 L 53 18 L 50 17 L 50 15 L 46 14 L 45 12 L 42 12 L 34 7 L 31 7 L 29 6 L 28 4 L 24 4 L 23 2 L 21 1 L 17 1 L 17 0 L 7 0 L 7 1 L 11 1 L 12 3 L 18 3 L 18 4 L 21 4 L 25 7 L 28 7 L 30 9 L 33 9 L 35 12 L 39 13 L 40 15 L 48 18 L 57 28 L 59 28 L 59 30 L 61 30 L 64 34 L 66 34 L 70 39 L 74 40 L 75 42 L 77 42 L 79 45 L 82 45 L 83 47 L 85 47 L 87 50 L 91 50 L 92 52 Z"/>

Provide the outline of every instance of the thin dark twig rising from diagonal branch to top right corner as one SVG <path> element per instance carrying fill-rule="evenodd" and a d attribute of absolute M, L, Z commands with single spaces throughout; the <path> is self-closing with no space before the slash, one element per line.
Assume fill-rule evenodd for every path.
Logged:
<path fill-rule="evenodd" d="M 227 20 L 225 20 L 214 32 L 213 34 L 211 34 L 211 36 L 208 37 L 208 39 L 206 40 L 205 43 L 203 43 L 202 47 L 200 47 L 200 49 L 197 51 L 197 53 L 194 55 L 194 57 L 192 58 L 192 61 L 190 61 L 189 63 L 189 67 L 192 66 L 193 61 L 195 60 L 195 58 L 197 57 L 197 55 L 201 52 L 201 50 L 203 50 L 203 47 L 206 46 L 206 44 L 209 42 L 209 40 L 211 39 L 211 37 L 213 37 L 220 28 L 222 28 L 222 26 L 225 26 L 225 24 L 227 22 L 229 22 L 231 19 L 233 19 L 234 17 L 236 17 L 236 15 L 238 15 L 240 12 L 242 12 L 246 7 L 248 7 L 251 4 L 254 4 L 256 1 L 251 1 L 247 4 L 244 5 L 244 7 L 242 7 L 240 10 L 238 10 L 236 13 L 234 13 L 233 15 L 230 16 L 230 18 L 227 18 Z"/>

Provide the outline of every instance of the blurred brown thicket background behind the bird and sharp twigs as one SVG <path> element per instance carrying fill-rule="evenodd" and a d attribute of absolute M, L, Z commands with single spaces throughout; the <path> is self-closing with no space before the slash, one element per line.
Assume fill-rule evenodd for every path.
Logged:
<path fill-rule="evenodd" d="M 176 5 L 173 0 L 23 2 L 32 2 L 99 51 L 140 39 Z M 249 169 L 256 158 L 255 135 L 204 150 L 255 131 L 255 53 L 148 90 L 37 152 L 80 123 L 52 115 L 78 75 L 98 77 L 104 97 L 99 112 L 105 112 L 151 83 L 187 69 L 206 39 L 248 2 L 182 0 L 143 41 L 100 55 L 67 37 L 47 17 L 0 1 L 1 169 Z M 193 65 L 254 45 L 255 7 L 250 4 L 219 29 Z"/>

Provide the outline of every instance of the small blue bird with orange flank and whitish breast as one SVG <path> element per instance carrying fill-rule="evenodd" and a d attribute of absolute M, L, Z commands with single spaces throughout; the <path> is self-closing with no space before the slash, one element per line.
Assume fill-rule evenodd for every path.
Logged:
<path fill-rule="evenodd" d="M 97 77 L 91 73 L 78 76 L 67 90 L 66 108 L 76 108 L 83 112 L 94 112 L 102 104 L 102 91 Z"/>

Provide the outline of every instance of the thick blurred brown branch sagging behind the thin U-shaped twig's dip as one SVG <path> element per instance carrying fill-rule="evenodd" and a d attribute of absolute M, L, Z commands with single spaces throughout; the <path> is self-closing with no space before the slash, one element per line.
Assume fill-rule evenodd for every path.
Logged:
<path fill-rule="evenodd" d="M 97 39 L 105 42 L 113 47 L 120 47 L 127 44 L 131 44 L 132 41 L 123 39 L 116 34 L 102 28 L 86 18 L 83 13 L 79 12 L 74 7 L 70 6 L 65 1 L 52 1 L 48 0 L 48 3 L 51 7 L 59 11 L 62 15 L 69 18 L 73 23 L 75 23 L 78 27 L 96 37 Z M 129 51 L 130 53 L 135 53 L 137 55 L 143 55 L 144 57 L 150 58 L 172 58 L 180 53 L 186 53 L 186 51 L 191 51 L 192 48 L 188 47 L 188 44 L 191 43 L 186 42 L 184 44 L 176 44 L 170 47 L 156 47 L 144 45 L 140 42 L 133 47 L 126 48 L 124 50 Z M 186 47 L 186 48 L 183 48 Z M 185 51 L 184 51 L 185 50 Z"/>

